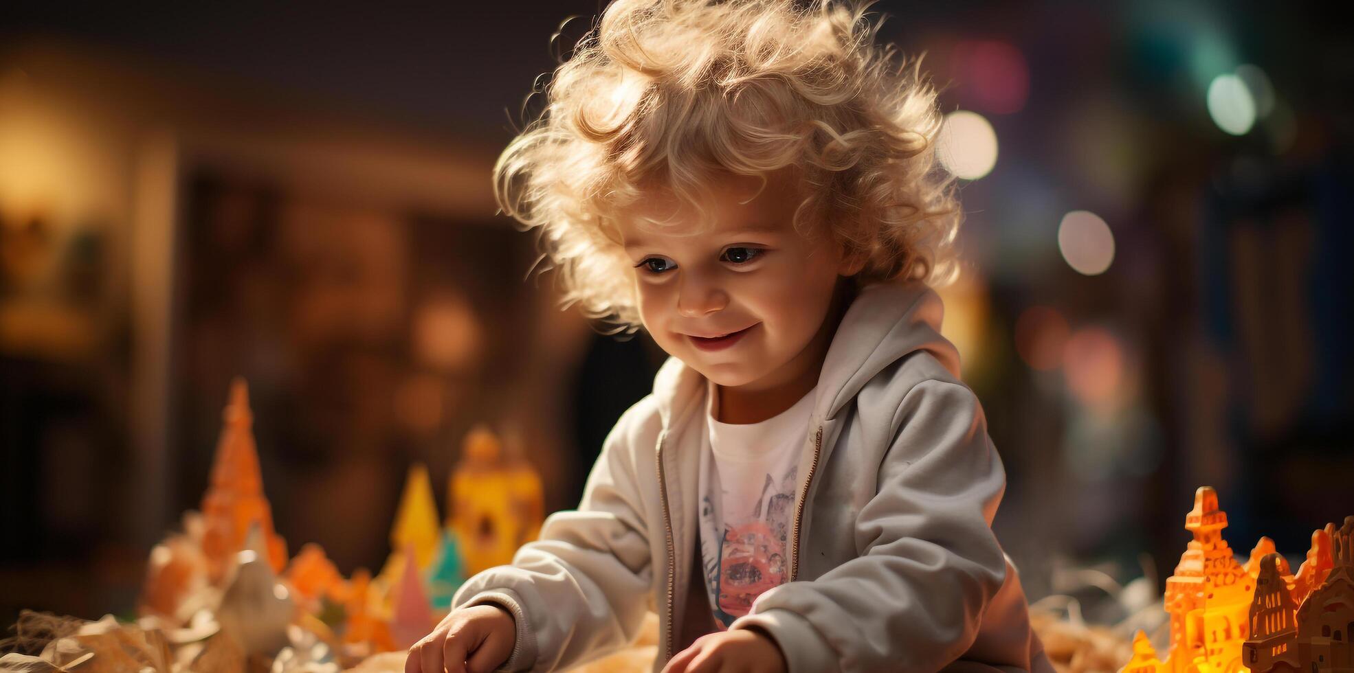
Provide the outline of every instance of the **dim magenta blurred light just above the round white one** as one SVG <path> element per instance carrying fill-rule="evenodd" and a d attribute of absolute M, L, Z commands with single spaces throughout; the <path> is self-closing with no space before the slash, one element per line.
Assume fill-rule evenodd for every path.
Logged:
<path fill-rule="evenodd" d="M 999 39 L 965 39 L 955 45 L 955 73 L 961 93 L 978 110 L 997 115 L 1020 112 L 1029 97 L 1025 56 Z"/>

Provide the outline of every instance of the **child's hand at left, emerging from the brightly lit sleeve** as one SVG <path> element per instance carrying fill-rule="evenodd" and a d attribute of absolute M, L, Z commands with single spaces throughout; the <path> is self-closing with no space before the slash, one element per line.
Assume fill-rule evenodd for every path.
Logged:
<path fill-rule="evenodd" d="M 409 649 L 405 673 L 489 673 L 512 654 L 517 623 L 497 605 L 451 611 Z"/>

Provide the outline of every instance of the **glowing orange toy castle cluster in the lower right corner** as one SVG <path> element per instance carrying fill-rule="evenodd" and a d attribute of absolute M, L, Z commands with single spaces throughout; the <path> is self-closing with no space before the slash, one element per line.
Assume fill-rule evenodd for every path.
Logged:
<path fill-rule="evenodd" d="M 1139 631 L 1121 673 L 1354 673 L 1354 516 L 1312 535 L 1296 576 L 1269 538 L 1238 563 L 1225 527 L 1217 493 L 1200 487 L 1185 517 L 1194 539 L 1166 581 L 1170 651 L 1158 659 Z"/>

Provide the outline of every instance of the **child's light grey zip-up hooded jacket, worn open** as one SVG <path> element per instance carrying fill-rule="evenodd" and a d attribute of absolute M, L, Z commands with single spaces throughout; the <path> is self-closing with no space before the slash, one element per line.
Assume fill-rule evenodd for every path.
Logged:
<path fill-rule="evenodd" d="M 731 628 L 760 628 L 791 673 L 1052 673 L 991 529 L 1006 486 L 983 410 L 925 284 L 862 288 L 823 363 L 799 463 L 789 581 Z M 496 603 L 504 669 L 575 666 L 658 612 L 658 670 L 714 628 L 701 585 L 697 474 L 707 382 L 676 359 L 607 437 L 577 511 L 452 605 Z"/>

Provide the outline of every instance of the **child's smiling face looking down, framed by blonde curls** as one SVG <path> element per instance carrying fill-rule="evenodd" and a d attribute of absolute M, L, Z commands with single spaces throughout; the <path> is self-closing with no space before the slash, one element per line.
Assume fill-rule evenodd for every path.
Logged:
<path fill-rule="evenodd" d="M 758 186 L 722 180 L 707 204 L 707 230 L 642 223 L 670 217 L 670 196 L 646 198 L 620 218 L 645 329 L 709 381 L 747 390 L 799 381 L 819 366 L 808 345 L 830 340 L 819 332 L 838 278 L 852 271 L 826 232 L 810 241 L 795 230 L 800 198 L 788 180 L 773 177 L 753 196 Z"/>

